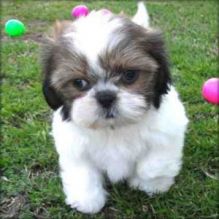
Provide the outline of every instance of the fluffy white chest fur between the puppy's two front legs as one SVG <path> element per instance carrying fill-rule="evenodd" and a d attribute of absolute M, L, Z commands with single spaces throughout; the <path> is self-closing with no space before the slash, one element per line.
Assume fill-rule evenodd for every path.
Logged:
<path fill-rule="evenodd" d="M 146 151 L 138 126 L 92 133 L 87 147 L 89 159 L 113 182 L 129 177 Z"/>

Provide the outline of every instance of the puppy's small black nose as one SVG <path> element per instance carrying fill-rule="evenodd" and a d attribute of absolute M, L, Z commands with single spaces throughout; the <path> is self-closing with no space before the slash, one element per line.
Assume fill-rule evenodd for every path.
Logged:
<path fill-rule="evenodd" d="M 110 108 L 116 100 L 116 94 L 113 91 L 105 90 L 96 93 L 97 102 L 104 108 Z"/>

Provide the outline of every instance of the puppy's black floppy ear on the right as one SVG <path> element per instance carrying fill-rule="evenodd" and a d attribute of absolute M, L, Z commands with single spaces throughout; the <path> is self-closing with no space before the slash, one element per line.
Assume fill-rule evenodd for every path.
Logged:
<path fill-rule="evenodd" d="M 159 108 L 161 97 L 168 93 L 171 84 L 169 71 L 169 62 L 163 41 L 163 35 L 160 31 L 148 31 L 147 34 L 147 52 L 157 61 L 158 69 L 155 75 L 153 104 Z"/>

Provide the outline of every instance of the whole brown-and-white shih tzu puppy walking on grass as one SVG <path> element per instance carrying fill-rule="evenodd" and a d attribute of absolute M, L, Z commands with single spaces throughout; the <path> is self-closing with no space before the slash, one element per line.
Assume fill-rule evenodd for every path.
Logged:
<path fill-rule="evenodd" d="M 142 2 L 132 20 L 92 11 L 56 23 L 44 45 L 43 72 L 68 205 L 100 211 L 104 176 L 149 195 L 170 188 L 188 120 L 161 33 L 149 27 Z"/>

